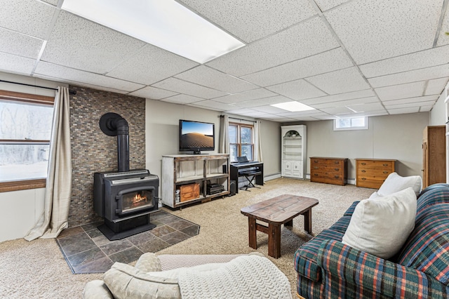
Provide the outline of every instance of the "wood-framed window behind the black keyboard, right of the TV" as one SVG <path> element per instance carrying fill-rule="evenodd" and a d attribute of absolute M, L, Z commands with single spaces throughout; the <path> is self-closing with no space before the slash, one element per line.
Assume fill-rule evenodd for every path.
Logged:
<path fill-rule="evenodd" d="M 241 156 L 246 156 L 248 161 L 254 160 L 253 129 L 252 125 L 229 123 L 231 162 L 236 162 Z"/>

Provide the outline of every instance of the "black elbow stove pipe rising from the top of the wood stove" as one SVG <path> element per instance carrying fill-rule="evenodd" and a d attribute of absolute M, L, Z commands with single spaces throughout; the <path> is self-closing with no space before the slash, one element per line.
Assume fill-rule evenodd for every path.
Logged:
<path fill-rule="evenodd" d="M 129 171 L 129 126 L 119 114 L 109 112 L 100 118 L 100 128 L 106 135 L 117 136 L 119 172 Z"/>

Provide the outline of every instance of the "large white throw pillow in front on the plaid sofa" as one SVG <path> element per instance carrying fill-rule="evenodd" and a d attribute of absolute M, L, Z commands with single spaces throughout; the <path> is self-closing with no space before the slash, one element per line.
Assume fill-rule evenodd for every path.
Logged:
<path fill-rule="evenodd" d="M 406 242 L 415 227 L 416 194 L 407 188 L 385 197 L 360 201 L 342 243 L 388 259 Z"/>

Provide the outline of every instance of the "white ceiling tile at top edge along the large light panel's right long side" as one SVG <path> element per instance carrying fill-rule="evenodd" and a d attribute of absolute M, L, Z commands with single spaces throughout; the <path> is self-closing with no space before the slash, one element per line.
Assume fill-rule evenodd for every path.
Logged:
<path fill-rule="evenodd" d="M 316 15 L 307 0 L 181 1 L 246 43 Z"/>

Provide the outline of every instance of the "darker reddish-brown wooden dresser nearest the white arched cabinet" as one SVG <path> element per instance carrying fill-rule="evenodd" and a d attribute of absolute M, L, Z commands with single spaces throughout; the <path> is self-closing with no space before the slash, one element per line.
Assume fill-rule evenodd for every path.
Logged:
<path fill-rule="evenodd" d="M 310 181 L 346 184 L 347 161 L 347 158 L 310 157 Z"/>

